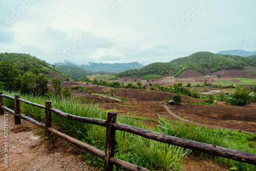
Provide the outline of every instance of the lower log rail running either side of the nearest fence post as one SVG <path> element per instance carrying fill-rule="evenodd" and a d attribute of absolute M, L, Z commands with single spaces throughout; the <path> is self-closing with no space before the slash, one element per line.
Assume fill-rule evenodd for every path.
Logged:
<path fill-rule="evenodd" d="M 86 150 L 87 152 L 91 153 L 92 155 L 94 156 L 97 156 L 101 159 L 104 160 L 104 157 L 105 157 L 105 153 L 103 151 L 101 151 L 100 149 L 98 148 L 95 148 L 94 146 L 92 145 L 89 145 L 89 144 L 86 144 L 84 142 L 81 142 L 71 136 L 68 136 L 66 134 L 63 134 L 55 129 L 53 129 L 52 127 L 48 127 L 47 128 L 48 131 L 50 131 L 51 133 L 53 133 L 54 135 L 57 135 L 59 136 L 60 138 L 63 138 L 69 142 L 71 142 L 72 144 Z M 118 158 L 115 158 L 115 157 L 111 157 L 110 158 L 110 162 L 121 167 L 122 169 L 125 169 L 125 170 L 131 170 L 131 171 L 149 171 L 148 169 L 144 168 L 144 167 L 139 167 L 139 166 L 136 166 L 134 164 L 131 164 L 129 162 L 126 162 L 126 161 L 123 161 L 121 159 L 118 159 Z"/>

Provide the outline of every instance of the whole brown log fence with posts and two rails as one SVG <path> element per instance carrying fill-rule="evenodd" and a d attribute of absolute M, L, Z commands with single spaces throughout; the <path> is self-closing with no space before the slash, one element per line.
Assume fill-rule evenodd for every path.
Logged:
<path fill-rule="evenodd" d="M 7 99 L 15 101 L 14 111 L 3 105 L 3 98 L 7 98 Z M 45 109 L 46 110 L 45 123 L 40 123 L 30 117 L 20 114 L 20 101 L 27 103 L 27 104 L 37 106 L 38 108 L 41 108 L 41 109 Z M 20 124 L 20 119 L 27 120 L 39 127 L 45 128 L 45 136 L 46 137 L 49 137 L 50 134 L 53 133 L 65 140 L 71 142 L 72 144 L 85 149 L 87 152 L 103 159 L 104 160 L 104 170 L 113 170 L 113 164 L 121 167 L 122 169 L 126 169 L 126 170 L 134 170 L 134 171 L 148 170 L 146 168 L 136 166 L 134 164 L 131 164 L 129 162 L 126 162 L 126 161 L 123 161 L 123 160 L 120 160 L 120 159 L 114 157 L 115 131 L 116 130 L 129 132 L 129 133 L 136 134 L 136 135 L 139 135 L 139 136 L 142 136 L 142 137 L 145 137 L 148 139 L 156 140 L 159 142 L 164 142 L 167 144 L 181 146 L 184 148 L 194 149 L 199 152 L 203 152 L 203 153 L 207 153 L 207 154 L 211 154 L 211 155 L 215 155 L 215 156 L 221 156 L 224 158 L 229 158 L 229 159 L 241 161 L 244 163 L 256 165 L 256 155 L 255 154 L 239 151 L 236 149 L 224 148 L 224 147 L 213 145 L 213 144 L 206 144 L 206 143 L 197 142 L 197 141 L 193 141 L 193 140 L 168 136 L 165 134 L 160 134 L 160 133 L 155 133 L 152 131 L 140 129 L 139 127 L 117 123 L 116 122 L 117 114 L 115 112 L 109 112 L 107 120 L 79 117 L 79 116 L 64 113 L 64 112 L 59 111 L 58 109 L 52 108 L 50 101 L 46 101 L 45 105 L 40 105 L 37 103 L 33 103 L 30 101 L 21 99 L 19 95 L 15 95 L 15 97 L 12 97 L 12 96 L 8 96 L 8 95 L 4 95 L 4 94 L 2 94 L 2 92 L 0 92 L 0 114 L 4 114 L 4 111 L 14 115 L 15 124 Z M 75 120 L 78 122 L 96 124 L 96 125 L 106 127 L 105 152 L 101 151 L 100 149 L 95 148 L 92 145 L 83 143 L 71 136 L 68 136 L 66 134 L 63 134 L 63 133 L 53 129 L 51 127 L 51 112 L 54 112 L 58 116 L 64 117 L 67 119 Z"/>

